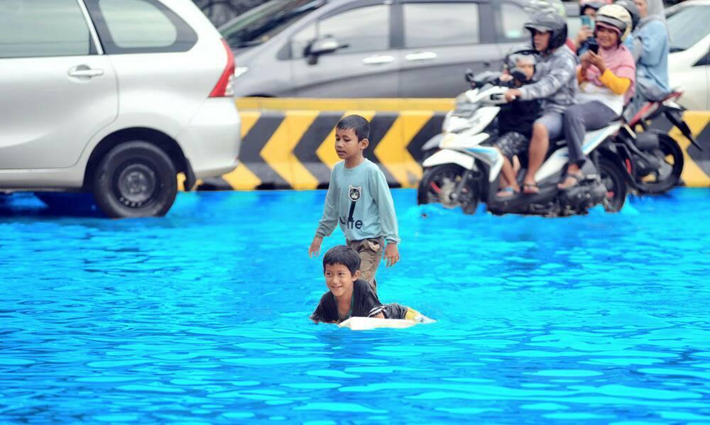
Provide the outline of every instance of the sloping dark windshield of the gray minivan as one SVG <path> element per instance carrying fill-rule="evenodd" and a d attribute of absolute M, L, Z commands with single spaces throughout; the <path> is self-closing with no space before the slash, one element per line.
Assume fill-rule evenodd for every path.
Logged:
<path fill-rule="evenodd" d="M 231 48 L 248 48 L 274 37 L 325 0 L 271 0 L 225 23 L 219 32 Z"/>

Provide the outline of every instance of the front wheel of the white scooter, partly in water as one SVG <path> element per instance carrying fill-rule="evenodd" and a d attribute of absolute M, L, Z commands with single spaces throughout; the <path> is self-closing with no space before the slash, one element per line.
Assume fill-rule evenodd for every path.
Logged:
<path fill-rule="evenodd" d="M 465 214 L 474 214 L 479 204 L 478 194 L 470 185 L 460 188 L 465 171 L 455 164 L 437 165 L 425 170 L 417 189 L 417 204 L 442 204 L 449 209 L 461 206 Z"/>

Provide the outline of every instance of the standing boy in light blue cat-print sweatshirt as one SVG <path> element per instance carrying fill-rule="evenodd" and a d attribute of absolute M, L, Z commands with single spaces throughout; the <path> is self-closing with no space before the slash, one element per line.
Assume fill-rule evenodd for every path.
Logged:
<path fill-rule="evenodd" d="M 381 258 L 387 267 L 400 259 L 397 244 L 397 214 L 382 170 L 363 152 L 370 144 L 370 123 L 359 115 L 342 118 L 335 128 L 338 162 L 330 175 L 323 216 L 308 249 L 310 257 L 320 253 L 325 236 L 340 224 L 347 244 L 360 256 L 360 273 L 377 292 L 375 272 Z M 385 241 L 387 246 L 385 248 Z"/>

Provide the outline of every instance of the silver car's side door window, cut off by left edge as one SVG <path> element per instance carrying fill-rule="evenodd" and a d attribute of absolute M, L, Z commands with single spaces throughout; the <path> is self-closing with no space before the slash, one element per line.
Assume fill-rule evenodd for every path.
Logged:
<path fill-rule="evenodd" d="M 0 57 L 89 55 L 90 40 L 76 0 L 0 4 Z"/>

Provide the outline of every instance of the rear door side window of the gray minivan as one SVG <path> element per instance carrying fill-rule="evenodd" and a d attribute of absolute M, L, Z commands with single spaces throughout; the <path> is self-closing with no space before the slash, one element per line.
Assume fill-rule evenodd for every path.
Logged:
<path fill-rule="evenodd" d="M 474 3 L 404 4 L 405 48 L 479 43 L 479 6 Z"/>

